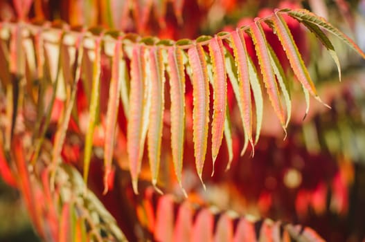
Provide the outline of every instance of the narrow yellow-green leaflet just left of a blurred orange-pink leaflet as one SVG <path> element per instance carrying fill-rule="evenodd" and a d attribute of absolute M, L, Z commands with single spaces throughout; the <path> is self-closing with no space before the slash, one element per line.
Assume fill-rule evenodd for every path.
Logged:
<path fill-rule="evenodd" d="M 91 153 L 93 147 L 94 130 L 96 126 L 96 120 L 98 119 L 98 106 L 100 95 L 100 69 L 101 69 L 101 36 L 95 41 L 95 59 L 93 66 L 93 81 L 91 87 L 91 100 L 89 106 L 89 127 L 85 136 L 84 147 L 84 183 L 87 184 L 87 178 L 89 176 L 89 166 L 91 160 Z M 86 189 L 85 189 L 86 191 Z"/>

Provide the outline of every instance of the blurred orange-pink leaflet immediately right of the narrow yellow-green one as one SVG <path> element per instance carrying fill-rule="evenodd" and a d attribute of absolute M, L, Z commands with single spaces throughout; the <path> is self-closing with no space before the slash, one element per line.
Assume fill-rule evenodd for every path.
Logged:
<path fill-rule="evenodd" d="M 109 174 L 112 172 L 113 151 L 116 136 L 116 119 L 118 116 L 119 95 L 121 94 L 120 60 L 122 54 L 122 42 L 118 39 L 114 46 L 114 55 L 112 59 L 112 78 L 109 86 L 109 100 L 107 106 L 107 120 L 105 128 L 104 144 L 104 194 L 108 190 Z"/>

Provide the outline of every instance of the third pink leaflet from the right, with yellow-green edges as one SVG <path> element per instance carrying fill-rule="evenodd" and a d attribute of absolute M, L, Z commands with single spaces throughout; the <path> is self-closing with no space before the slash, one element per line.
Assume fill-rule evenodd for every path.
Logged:
<path fill-rule="evenodd" d="M 244 41 L 244 36 L 242 30 L 239 28 L 235 31 L 231 32 L 232 46 L 233 46 L 233 55 L 235 57 L 235 66 L 237 67 L 238 73 L 238 86 L 240 93 L 241 102 L 241 118 L 243 129 L 245 133 L 245 139 L 248 138 L 252 150 L 253 150 L 253 141 L 252 141 L 252 104 L 251 104 L 251 87 L 249 82 L 249 66 L 247 60 L 247 50 L 246 43 Z M 247 142 L 247 141 L 245 141 Z M 246 148 L 242 149 L 241 154 L 243 155 Z"/>

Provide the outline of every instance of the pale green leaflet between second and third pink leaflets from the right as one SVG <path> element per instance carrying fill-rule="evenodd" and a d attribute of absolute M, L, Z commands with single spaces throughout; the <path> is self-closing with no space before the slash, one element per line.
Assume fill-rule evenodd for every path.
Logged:
<path fill-rule="evenodd" d="M 255 145 L 256 145 L 258 142 L 258 138 L 260 137 L 264 105 L 263 105 L 261 85 L 258 79 L 256 67 L 253 65 L 250 57 L 249 57 L 249 81 L 251 84 L 251 89 L 253 93 L 253 98 L 255 100 L 255 109 L 256 109 L 256 136 L 255 136 Z"/>

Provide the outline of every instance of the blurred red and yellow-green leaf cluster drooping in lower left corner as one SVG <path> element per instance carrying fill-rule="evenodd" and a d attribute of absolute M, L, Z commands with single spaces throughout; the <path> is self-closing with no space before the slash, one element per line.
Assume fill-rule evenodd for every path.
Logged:
<path fill-rule="evenodd" d="M 49 160 L 39 159 L 29 170 L 24 153 L 28 145 L 21 136 L 14 136 L 11 153 L 0 149 L 0 167 L 7 171 L 4 180 L 23 194 L 39 236 L 46 241 L 126 241 L 98 198 L 89 190 L 84 194 L 87 188 L 72 166 L 62 165 L 57 175 L 52 176 Z M 17 172 L 16 176 L 8 161 L 15 166 L 12 170 Z"/>

